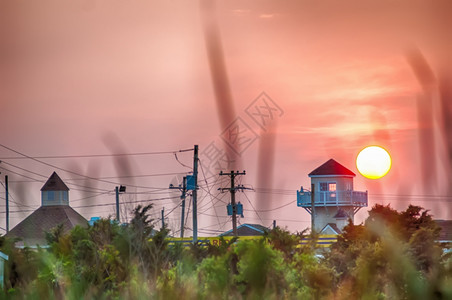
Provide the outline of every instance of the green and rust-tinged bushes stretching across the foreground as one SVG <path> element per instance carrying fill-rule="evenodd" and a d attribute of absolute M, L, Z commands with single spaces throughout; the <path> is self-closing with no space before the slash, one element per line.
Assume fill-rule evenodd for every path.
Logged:
<path fill-rule="evenodd" d="M 56 227 L 45 249 L 0 237 L 9 255 L 0 298 L 452 299 L 452 258 L 421 207 L 376 205 L 327 250 L 278 227 L 256 240 L 170 245 L 150 209 L 138 206 L 124 226 L 101 219 L 67 234 Z"/>

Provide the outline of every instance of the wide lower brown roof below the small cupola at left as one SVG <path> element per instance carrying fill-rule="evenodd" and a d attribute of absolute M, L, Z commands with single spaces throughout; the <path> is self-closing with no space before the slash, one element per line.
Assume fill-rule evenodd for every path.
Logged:
<path fill-rule="evenodd" d="M 6 235 L 22 239 L 16 246 L 42 246 L 47 244 L 45 232 L 59 224 L 63 224 L 64 232 L 68 232 L 76 225 L 88 224 L 88 221 L 68 205 L 41 206 Z"/>

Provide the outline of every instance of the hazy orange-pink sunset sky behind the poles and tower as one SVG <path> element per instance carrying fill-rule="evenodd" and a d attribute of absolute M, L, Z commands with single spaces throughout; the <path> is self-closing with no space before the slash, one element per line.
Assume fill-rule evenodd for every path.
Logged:
<path fill-rule="evenodd" d="M 357 175 L 355 189 L 369 190 L 370 204 L 391 203 L 404 209 L 411 201 L 431 209 L 437 218 L 452 218 L 451 198 L 446 197 L 448 163 L 436 118 L 432 129 L 436 147 L 427 149 L 436 159 L 436 186 L 426 187 L 422 181 L 418 142 L 422 126 L 416 103 L 426 92 L 406 56 L 417 47 L 437 74 L 444 53 L 450 49 L 446 42 L 451 27 L 446 25 L 451 24 L 444 20 L 451 7 L 447 1 L 430 2 L 217 3 L 215 20 L 234 110 L 260 137 L 241 156 L 241 168 L 247 171 L 242 183 L 258 188 L 265 181 L 270 185 L 267 188 L 284 190 L 282 194 L 247 192 L 260 210 L 294 201 L 293 205 L 261 212 L 262 220 L 249 211 L 242 223 L 270 225 L 276 219 L 291 230 L 309 226 L 309 215 L 295 204 L 295 190 L 300 185 L 309 186 L 307 174 L 329 158 L 358 174 L 356 155 L 375 143 L 389 150 L 393 169 L 378 181 Z M 201 17 L 196 1 L 2 1 L 0 143 L 30 156 L 166 151 L 194 144 L 199 144 L 202 153 L 211 142 L 221 145 L 224 128 L 218 119 Z M 270 134 L 261 131 L 246 114 L 262 92 L 283 111 L 275 117 L 273 129 L 268 129 L 273 132 Z M 436 87 L 429 93 L 438 115 Z M 273 155 L 259 152 L 261 144 L 264 150 L 273 145 Z M 273 160 L 274 164 L 259 168 L 259 155 L 262 161 Z M 0 156 L 16 155 L 0 149 Z M 179 158 L 184 164 L 192 163 L 190 153 Z M 46 176 L 53 172 L 30 160 L 4 161 Z M 201 156 L 203 161 L 207 158 Z M 130 157 L 126 170 L 115 168 L 109 157 L 46 162 L 90 177 L 189 171 L 171 154 Z M 36 174 L 1 166 L 43 180 Z M 17 202 L 39 205 L 42 182 L 28 182 L 0 171 L 10 176 Z M 124 174 L 126 171 L 131 174 Z M 259 177 L 258 172 L 271 174 Z M 58 173 L 68 180 L 76 177 Z M 112 180 L 165 188 L 173 177 Z M 19 182 L 24 180 L 27 182 Z M 114 189 L 114 184 L 83 182 Z M 210 191 L 214 182 L 215 178 L 208 180 L 206 190 Z M 210 191 L 218 200 L 206 190 L 201 191 L 205 215 L 200 216 L 200 228 L 230 229 L 222 202 L 228 201 L 228 195 Z M 160 193 L 127 197 L 168 196 L 168 191 Z M 73 189 L 71 200 L 87 195 Z M 4 193 L 0 197 L 4 198 Z M 244 195 L 239 197 L 246 209 L 253 209 Z M 108 194 L 72 206 L 113 200 L 114 195 Z M 169 211 L 175 205 L 177 201 L 171 199 L 156 202 L 155 217 L 161 206 Z M 212 205 L 216 211 L 209 209 Z M 78 210 L 89 218 L 113 213 L 113 208 Z M 212 217 L 216 213 L 220 217 Z M 13 214 L 11 223 L 26 214 Z M 366 210 L 362 210 L 357 220 L 365 216 Z M 177 215 L 168 218 L 177 222 Z"/>

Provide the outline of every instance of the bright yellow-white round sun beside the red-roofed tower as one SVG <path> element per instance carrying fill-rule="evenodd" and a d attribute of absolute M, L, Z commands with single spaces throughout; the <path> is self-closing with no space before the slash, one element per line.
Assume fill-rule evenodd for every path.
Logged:
<path fill-rule="evenodd" d="M 391 169 L 391 156 L 379 146 L 369 146 L 361 150 L 356 157 L 356 167 L 366 178 L 378 179 Z"/>

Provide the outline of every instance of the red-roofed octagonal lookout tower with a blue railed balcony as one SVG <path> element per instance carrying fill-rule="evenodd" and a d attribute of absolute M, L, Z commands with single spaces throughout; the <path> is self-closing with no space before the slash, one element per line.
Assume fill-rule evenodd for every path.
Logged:
<path fill-rule="evenodd" d="M 355 173 L 335 161 L 326 163 L 309 173 L 311 191 L 297 191 L 297 206 L 311 214 L 312 228 L 316 232 L 340 233 L 348 220 L 367 207 L 367 191 L 353 190 Z M 314 193 L 312 193 L 312 191 Z"/>

